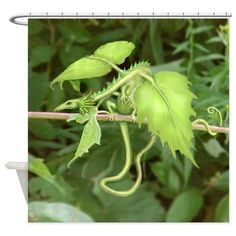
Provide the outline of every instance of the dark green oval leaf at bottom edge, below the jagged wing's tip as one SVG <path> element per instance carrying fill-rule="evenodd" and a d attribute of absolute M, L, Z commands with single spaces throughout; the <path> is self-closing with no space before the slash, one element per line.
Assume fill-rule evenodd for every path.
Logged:
<path fill-rule="evenodd" d="M 200 211 L 203 205 L 203 197 L 200 191 L 187 190 L 178 195 L 172 202 L 166 220 L 169 222 L 191 221 Z"/>

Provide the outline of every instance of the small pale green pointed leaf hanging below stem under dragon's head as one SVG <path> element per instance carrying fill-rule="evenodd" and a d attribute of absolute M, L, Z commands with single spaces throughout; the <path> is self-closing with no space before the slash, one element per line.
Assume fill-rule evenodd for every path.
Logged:
<path fill-rule="evenodd" d="M 87 153 L 89 148 L 94 144 L 100 145 L 100 139 L 101 128 L 97 122 L 96 115 L 92 115 L 84 127 L 76 153 L 73 159 L 69 162 L 68 166 L 70 166 L 71 163 L 78 157 L 81 157 L 84 153 Z"/>

